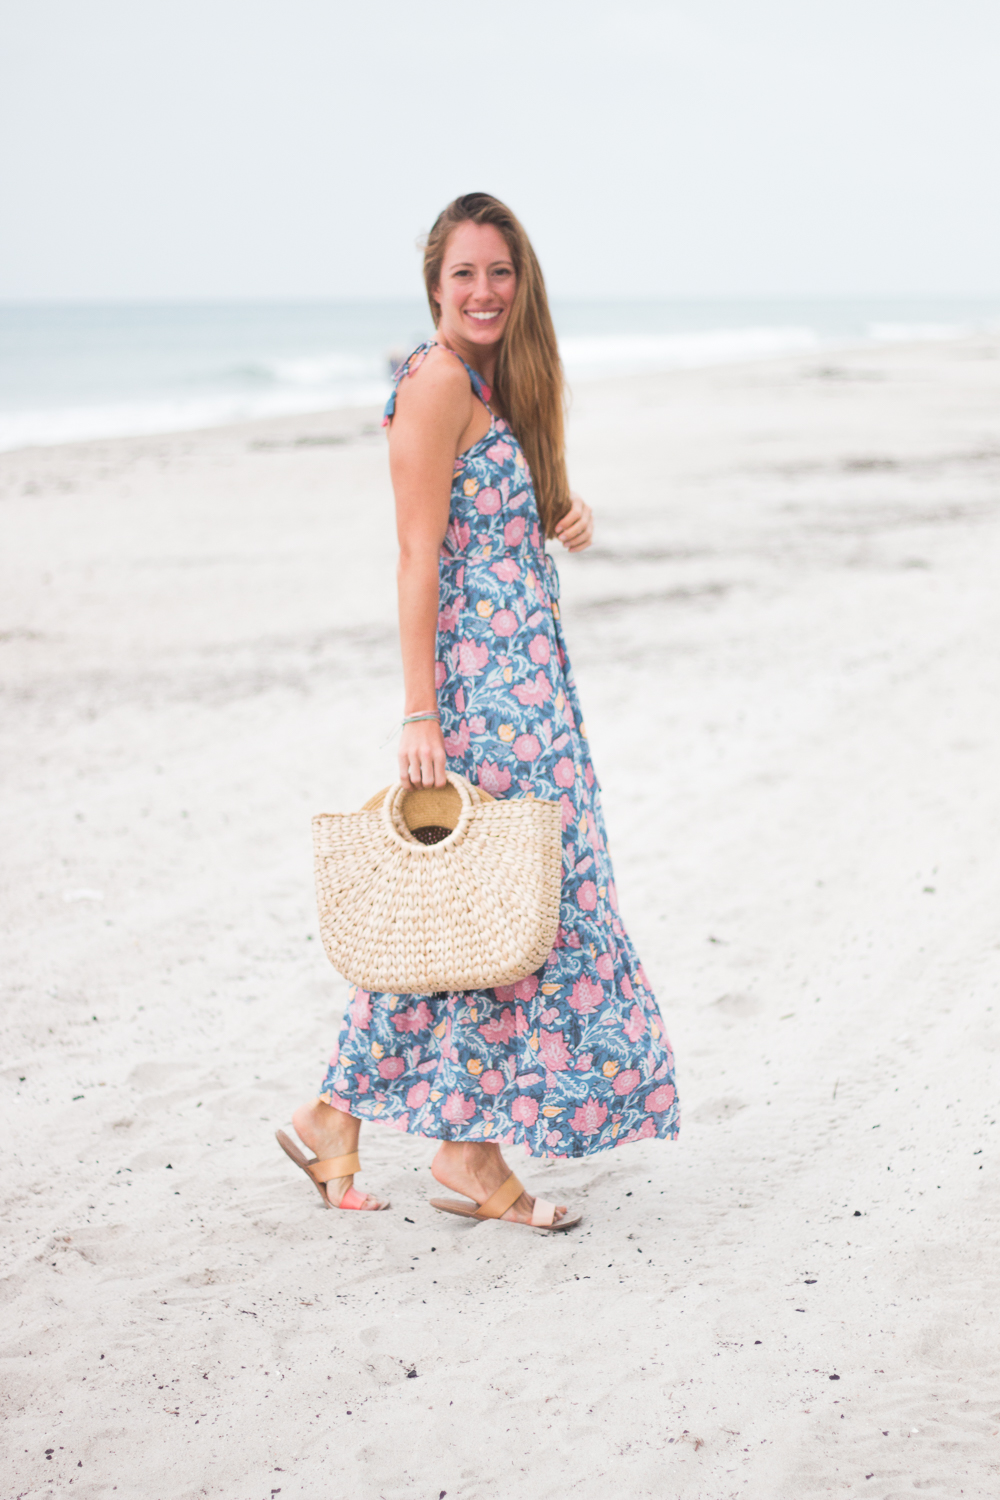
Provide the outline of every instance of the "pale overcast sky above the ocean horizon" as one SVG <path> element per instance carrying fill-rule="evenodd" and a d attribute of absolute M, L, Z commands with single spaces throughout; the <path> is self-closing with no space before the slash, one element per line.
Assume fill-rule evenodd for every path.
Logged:
<path fill-rule="evenodd" d="M 0 0 L 0 297 L 1000 291 L 997 0 Z"/>

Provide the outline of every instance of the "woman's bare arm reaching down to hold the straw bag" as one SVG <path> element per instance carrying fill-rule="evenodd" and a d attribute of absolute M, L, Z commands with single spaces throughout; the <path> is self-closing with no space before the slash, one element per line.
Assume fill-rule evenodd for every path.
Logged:
<path fill-rule="evenodd" d="M 459 440 L 469 422 L 469 378 L 448 356 L 430 351 L 396 394 L 388 460 L 396 494 L 399 537 L 399 640 L 403 657 L 403 714 L 438 706 L 435 639 L 438 632 L 438 554 L 448 526 L 451 477 Z M 444 786 L 441 724 L 406 724 L 399 741 L 403 786 Z"/>

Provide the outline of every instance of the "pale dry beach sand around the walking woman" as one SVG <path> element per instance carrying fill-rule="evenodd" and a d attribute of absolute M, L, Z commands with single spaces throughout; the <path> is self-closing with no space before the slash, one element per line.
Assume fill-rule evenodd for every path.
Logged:
<path fill-rule="evenodd" d="M 309 816 L 384 784 L 370 412 L 7 454 L 1 1494 L 1000 1494 L 1000 344 L 577 392 L 561 564 L 675 1144 L 381 1215 L 273 1131 L 345 986 Z M 46 1456 L 51 1452 L 51 1456 Z"/>

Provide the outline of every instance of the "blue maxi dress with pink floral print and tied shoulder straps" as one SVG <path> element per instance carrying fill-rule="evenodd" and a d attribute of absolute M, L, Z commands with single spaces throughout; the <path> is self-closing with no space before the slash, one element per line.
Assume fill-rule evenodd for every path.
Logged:
<path fill-rule="evenodd" d="M 396 374 L 415 370 L 420 345 Z M 457 358 L 457 356 L 456 356 Z M 475 394 L 489 392 L 469 369 Z M 493 796 L 562 810 L 559 932 L 519 984 L 439 994 L 355 988 L 321 1096 L 439 1140 L 588 1156 L 673 1137 L 673 1054 L 618 915 L 600 789 L 525 456 L 493 417 L 456 459 L 441 549 L 436 686 L 448 766 Z"/>

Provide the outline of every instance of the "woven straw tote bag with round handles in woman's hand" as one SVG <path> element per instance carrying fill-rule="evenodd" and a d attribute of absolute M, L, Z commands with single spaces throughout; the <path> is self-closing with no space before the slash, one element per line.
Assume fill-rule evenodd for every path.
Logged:
<path fill-rule="evenodd" d="M 433 994 L 514 984 L 556 940 L 558 802 L 495 800 L 448 771 L 444 788 L 378 792 L 312 820 L 319 932 L 364 990 Z"/>

